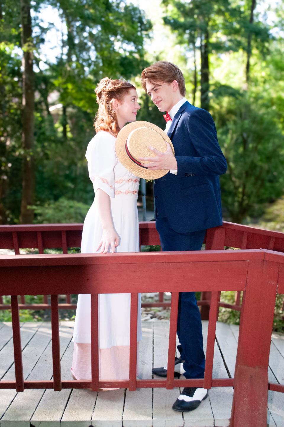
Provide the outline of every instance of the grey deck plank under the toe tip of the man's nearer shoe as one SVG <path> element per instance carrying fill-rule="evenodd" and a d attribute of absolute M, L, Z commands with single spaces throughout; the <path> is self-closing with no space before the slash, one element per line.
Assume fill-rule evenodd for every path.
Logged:
<path fill-rule="evenodd" d="M 166 366 L 169 343 L 169 321 L 154 322 L 154 367 Z M 158 377 L 155 376 L 155 379 Z M 172 409 L 180 389 L 153 389 L 153 427 L 183 426 L 182 412 Z"/>

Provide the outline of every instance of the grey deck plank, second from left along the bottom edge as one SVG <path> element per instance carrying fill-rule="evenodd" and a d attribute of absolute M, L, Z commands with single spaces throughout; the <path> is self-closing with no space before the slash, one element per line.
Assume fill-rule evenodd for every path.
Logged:
<path fill-rule="evenodd" d="M 71 337 L 69 337 L 69 341 L 70 340 Z M 72 380 L 70 371 L 72 356 L 73 345 L 71 345 L 70 342 L 61 360 L 62 380 Z M 39 425 L 41 427 L 60 427 L 60 420 L 71 392 L 71 389 L 62 389 L 59 392 L 55 392 L 53 389 L 47 389 L 30 420 L 31 424 L 35 427 Z"/>

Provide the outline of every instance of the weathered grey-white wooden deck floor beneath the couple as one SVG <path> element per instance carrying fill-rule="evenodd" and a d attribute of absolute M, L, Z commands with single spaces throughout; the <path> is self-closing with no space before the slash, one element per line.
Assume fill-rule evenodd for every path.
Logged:
<path fill-rule="evenodd" d="M 203 321 L 204 349 L 208 322 Z M 74 322 L 60 323 L 60 351 L 62 379 L 71 379 Z M 142 323 L 143 339 L 139 348 L 139 378 L 152 378 L 154 366 L 165 366 L 169 321 Z M 234 375 L 239 328 L 217 322 L 214 349 L 213 377 Z M 24 378 L 46 380 L 52 378 L 51 325 L 48 322 L 21 324 Z M 0 323 L 0 378 L 14 380 L 12 323 Z M 284 383 L 284 336 L 273 333 L 269 380 Z M 180 389 L 120 389 L 91 392 L 80 389 L 0 389 L 0 427 L 211 427 L 228 426 L 233 389 L 213 388 L 209 398 L 192 412 L 172 410 L 172 403 Z M 284 394 L 268 392 L 268 426 L 284 427 Z M 245 426 L 244 426 L 245 427 Z"/>

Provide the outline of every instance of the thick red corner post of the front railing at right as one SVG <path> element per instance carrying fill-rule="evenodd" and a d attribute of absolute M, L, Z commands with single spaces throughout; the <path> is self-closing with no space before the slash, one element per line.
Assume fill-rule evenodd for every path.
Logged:
<path fill-rule="evenodd" d="M 230 427 L 266 427 L 267 371 L 277 280 L 277 263 L 249 261 Z"/>

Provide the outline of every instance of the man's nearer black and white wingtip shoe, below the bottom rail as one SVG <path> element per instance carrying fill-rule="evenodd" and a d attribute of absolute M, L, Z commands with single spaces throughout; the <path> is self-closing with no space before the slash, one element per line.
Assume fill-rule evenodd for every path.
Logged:
<path fill-rule="evenodd" d="M 185 387 L 182 393 L 172 406 L 172 409 L 179 412 L 192 411 L 198 408 L 203 400 L 208 396 L 207 389 L 197 387 Z"/>

